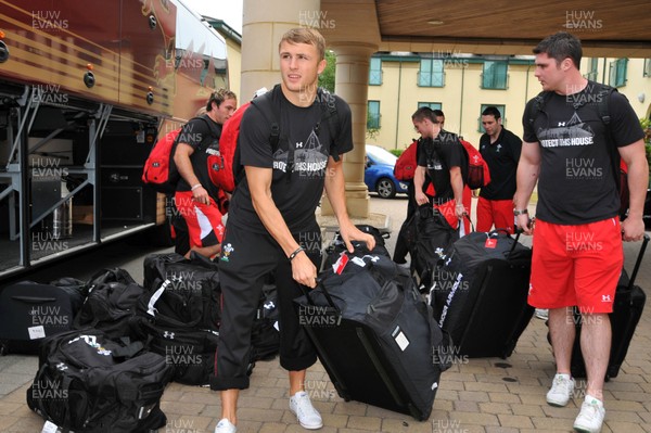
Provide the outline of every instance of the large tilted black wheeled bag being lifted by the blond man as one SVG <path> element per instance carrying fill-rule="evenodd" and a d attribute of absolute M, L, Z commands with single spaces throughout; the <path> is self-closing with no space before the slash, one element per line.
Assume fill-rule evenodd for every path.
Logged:
<path fill-rule="evenodd" d="M 388 257 L 344 253 L 335 267 L 295 302 L 339 395 L 426 420 L 451 364 L 431 308 Z"/>

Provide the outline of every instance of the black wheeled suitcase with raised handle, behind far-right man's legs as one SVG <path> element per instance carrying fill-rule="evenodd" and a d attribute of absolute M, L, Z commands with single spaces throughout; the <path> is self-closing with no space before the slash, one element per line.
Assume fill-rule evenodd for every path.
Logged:
<path fill-rule="evenodd" d="M 612 342 L 608 369 L 605 370 L 607 381 L 611 378 L 616 378 L 620 373 L 635 329 L 642 317 L 647 295 L 640 286 L 635 285 L 635 280 L 648 243 L 649 234 L 646 234 L 630 277 L 628 277 L 626 270 L 623 270 L 617 283 L 613 313 L 610 314 Z M 576 338 L 572 349 L 571 373 L 574 378 L 585 378 L 586 367 L 580 352 L 582 318 L 577 308 L 574 308 L 574 319 L 576 323 Z"/>

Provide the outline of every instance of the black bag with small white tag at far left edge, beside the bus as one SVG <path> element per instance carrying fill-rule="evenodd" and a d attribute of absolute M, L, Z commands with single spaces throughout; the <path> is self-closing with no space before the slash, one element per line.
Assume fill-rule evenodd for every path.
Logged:
<path fill-rule="evenodd" d="M 61 284 L 61 285 L 55 285 Z M 46 336 L 68 331 L 84 303 L 84 283 L 21 281 L 0 293 L 0 352 L 37 354 Z"/>

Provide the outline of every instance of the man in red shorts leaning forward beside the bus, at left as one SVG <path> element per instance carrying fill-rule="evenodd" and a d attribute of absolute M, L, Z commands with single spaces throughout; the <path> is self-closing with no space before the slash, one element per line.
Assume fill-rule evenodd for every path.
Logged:
<path fill-rule="evenodd" d="M 235 93 L 219 89 L 206 102 L 202 118 L 188 122 L 178 137 L 174 162 L 181 175 L 174 196 L 175 206 L 188 224 L 190 251 L 206 257 L 219 253 L 224 225 L 217 207 L 219 189 L 209 176 L 213 155 L 218 153 L 221 125 L 238 107 Z"/>

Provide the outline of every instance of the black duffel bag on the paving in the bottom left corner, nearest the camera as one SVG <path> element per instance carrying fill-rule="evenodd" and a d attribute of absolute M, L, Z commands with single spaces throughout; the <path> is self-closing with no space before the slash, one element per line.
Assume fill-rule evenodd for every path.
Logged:
<path fill-rule="evenodd" d="M 47 338 L 27 405 L 63 432 L 149 432 L 166 424 L 159 403 L 171 379 L 165 357 L 102 331 Z"/>

